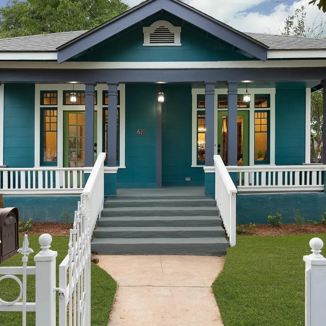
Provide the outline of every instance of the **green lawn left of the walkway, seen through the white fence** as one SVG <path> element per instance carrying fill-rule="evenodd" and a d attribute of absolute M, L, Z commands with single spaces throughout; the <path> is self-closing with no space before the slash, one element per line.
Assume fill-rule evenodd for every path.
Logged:
<path fill-rule="evenodd" d="M 39 236 L 28 236 L 29 247 L 34 250 L 29 255 L 28 265 L 35 266 L 34 256 L 40 251 L 38 244 Z M 19 237 L 20 247 L 23 237 Z M 52 250 L 58 252 L 57 264 L 57 286 L 59 280 L 58 267 L 63 258 L 67 255 L 68 237 L 52 237 Z M 22 255 L 17 254 L 0 266 L 22 266 Z M 17 275 L 18 276 L 18 275 Z M 18 276 L 20 279 L 22 277 Z M 91 325 L 107 326 L 110 317 L 111 306 L 116 292 L 117 284 L 115 280 L 98 266 L 91 266 Z M 13 301 L 18 297 L 19 286 L 14 280 L 2 280 L 0 282 L 0 298 L 5 301 Z M 57 299 L 58 300 L 58 299 Z M 27 302 L 35 302 L 35 275 L 27 276 Z M 35 325 L 35 313 L 27 312 L 26 324 Z M 17 326 L 22 324 L 21 312 L 0 312 L 1 326 Z M 57 324 L 58 324 L 58 304 L 57 304 Z"/>

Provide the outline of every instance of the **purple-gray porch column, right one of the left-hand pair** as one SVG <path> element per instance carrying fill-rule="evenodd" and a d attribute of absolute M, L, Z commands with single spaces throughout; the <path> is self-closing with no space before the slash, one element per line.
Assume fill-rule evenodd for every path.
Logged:
<path fill-rule="evenodd" d="M 118 83 L 108 84 L 108 166 L 117 166 Z"/>

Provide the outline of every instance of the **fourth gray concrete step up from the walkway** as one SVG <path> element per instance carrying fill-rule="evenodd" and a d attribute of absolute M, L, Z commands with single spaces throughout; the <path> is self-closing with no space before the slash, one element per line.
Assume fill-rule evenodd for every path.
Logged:
<path fill-rule="evenodd" d="M 116 207 L 105 208 L 101 216 L 218 216 L 216 207 Z"/>

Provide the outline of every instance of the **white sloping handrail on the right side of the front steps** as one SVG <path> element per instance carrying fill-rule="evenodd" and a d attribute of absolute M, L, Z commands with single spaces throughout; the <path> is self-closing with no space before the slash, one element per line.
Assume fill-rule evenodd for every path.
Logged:
<path fill-rule="evenodd" d="M 221 157 L 214 155 L 216 206 L 230 238 L 230 246 L 236 242 L 236 194 L 237 189 Z"/>

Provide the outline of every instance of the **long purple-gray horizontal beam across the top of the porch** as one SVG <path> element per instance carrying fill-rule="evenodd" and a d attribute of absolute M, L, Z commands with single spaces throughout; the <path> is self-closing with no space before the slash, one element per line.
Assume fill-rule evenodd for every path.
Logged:
<path fill-rule="evenodd" d="M 277 82 L 319 82 L 326 76 L 326 67 L 297 68 L 231 68 L 231 69 L 1 69 L 2 83 L 67 83 L 74 76 L 83 84 L 109 80 L 120 83 L 188 83 L 198 80 L 259 80 Z M 123 78 L 123 79 L 122 79 Z M 303 85 L 303 87 L 305 87 Z"/>

